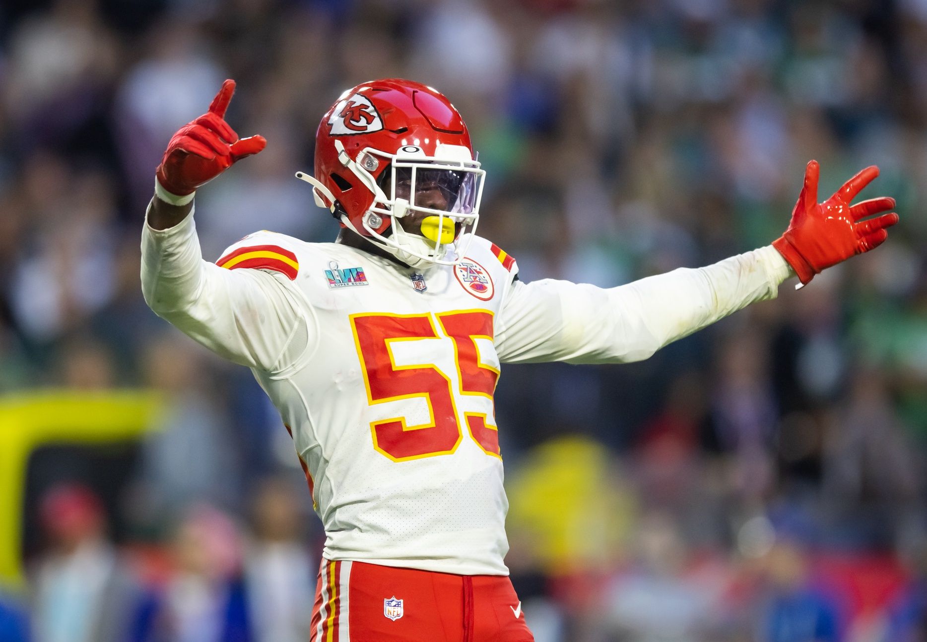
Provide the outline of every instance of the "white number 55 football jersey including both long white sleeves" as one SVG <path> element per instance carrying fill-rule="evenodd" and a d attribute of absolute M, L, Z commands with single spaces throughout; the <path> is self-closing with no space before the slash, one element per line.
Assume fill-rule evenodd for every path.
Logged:
<path fill-rule="evenodd" d="M 248 366 L 279 409 L 324 557 L 442 573 L 508 573 L 501 363 L 646 359 L 776 296 L 790 271 L 768 246 L 611 289 L 516 274 L 479 237 L 459 265 L 424 270 L 270 232 L 217 265 L 192 215 L 142 239 L 148 305 Z"/>

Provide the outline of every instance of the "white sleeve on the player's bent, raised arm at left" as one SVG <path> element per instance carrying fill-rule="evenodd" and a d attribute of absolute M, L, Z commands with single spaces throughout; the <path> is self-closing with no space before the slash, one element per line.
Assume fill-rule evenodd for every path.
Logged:
<path fill-rule="evenodd" d="M 203 260 L 193 212 L 167 230 L 148 225 L 146 213 L 142 293 L 148 307 L 225 359 L 263 371 L 286 368 L 290 341 L 307 338 L 298 296 L 285 282 L 283 274 L 225 270 Z"/>

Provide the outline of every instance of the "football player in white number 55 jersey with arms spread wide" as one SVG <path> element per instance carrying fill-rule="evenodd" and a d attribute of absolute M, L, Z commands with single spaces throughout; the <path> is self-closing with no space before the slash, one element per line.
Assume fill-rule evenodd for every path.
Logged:
<path fill-rule="evenodd" d="M 883 213 L 892 198 L 851 205 L 877 168 L 819 203 L 811 161 L 771 245 L 611 289 L 524 283 L 476 235 L 484 170 L 464 120 L 431 87 L 388 79 L 342 94 L 314 176 L 297 174 L 340 222 L 337 241 L 262 231 L 210 263 L 195 191 L 266 144 L 225 122 L 234 91 L 224 82 L 171 138 L 142 285 L 159 316 L 248 366 L 293 436 L 326 533 L 312 640 L 533 639 L 503 563 L 500 364 L 647 359 L 882 244 L 898 220 Z"/>

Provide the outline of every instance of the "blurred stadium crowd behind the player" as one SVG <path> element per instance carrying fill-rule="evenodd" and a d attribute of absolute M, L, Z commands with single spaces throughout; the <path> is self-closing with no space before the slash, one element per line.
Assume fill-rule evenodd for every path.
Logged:
<path fill-rule="evenodd" d="M 331 240 L 293 173 L 387 76 L 464 114 L 480 233 L 527 281 L 767 245 L 809 158 L 821 195 L 882 168 L 879 251 L 640 364 L 505 369 L 507 562 L 539 642 L 927 639 L 924 0 L 5 0 L 0 450 L 30 409 L 60 422 L 0 471 L 0 639 L 155 639 L 171 608 L 158 639 L 300 639 L 323 534 L 289 437 L 146 308 L 139 234 L 171 133 L 231 77 L 268 147 L 197 196 L 205 256 Z"/>

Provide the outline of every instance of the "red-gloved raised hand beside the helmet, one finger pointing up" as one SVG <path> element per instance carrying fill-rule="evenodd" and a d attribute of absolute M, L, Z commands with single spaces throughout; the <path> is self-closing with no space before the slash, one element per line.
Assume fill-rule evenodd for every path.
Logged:
<path fill-rule="evenodd" d="M 222 82 L 210 110 L 171 137 L 156 174 L 166 192 L 176 196 L 193 194 L 197 187 L 214 179 L 236 160 L 257 154 L 267 145 L 263 136 L 238 138 L 225 122 L 232 94 L 235 81 Z"/>

